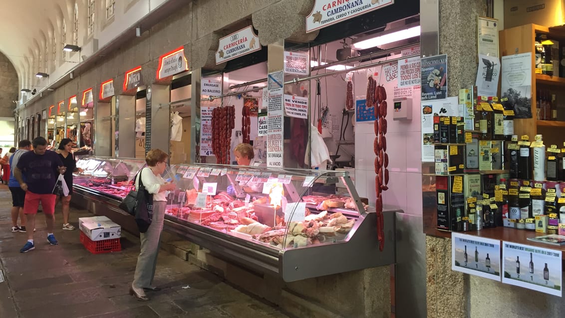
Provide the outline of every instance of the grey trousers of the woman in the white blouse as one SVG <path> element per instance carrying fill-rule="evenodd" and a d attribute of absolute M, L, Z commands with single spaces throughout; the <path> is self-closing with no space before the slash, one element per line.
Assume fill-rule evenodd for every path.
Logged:
<path fill-rule="evenodd" d="M 147 232 L 140 233 L 141 251 L 140 256 L 137 257 L 136 273 L 133 275 L 134 287 L 144 288 L 153 284 L 166 206 L 165 201 L 153 202 L 153 221 Z"/>

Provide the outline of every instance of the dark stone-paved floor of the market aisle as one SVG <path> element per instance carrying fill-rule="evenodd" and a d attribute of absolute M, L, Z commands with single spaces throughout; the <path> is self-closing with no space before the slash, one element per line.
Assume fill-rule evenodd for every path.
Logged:
<path fill-rule="evenodd" d="M 25 233 L 10 232 L 11 197 L 0 185 L 0 317 L 288 317 L 277 308 L 225 284 L 218 276 L 160 251 L 149 302 L 128 294 L 139 252 L 137 237 L 122 233 L 122 251 L 93 255 L 79 242 L 79 230 L 55 229 L 58 246 L 45 241 L 38 216 L 36 249 L 21 254 Z M 60 224 L 57 208 L 56 224 Z M 87 211 L 71 210 L 72 223 Z M 0 276 L 0 281 L 2 277 Z M 12 298 L 13 297 L 13 298 Z"/>

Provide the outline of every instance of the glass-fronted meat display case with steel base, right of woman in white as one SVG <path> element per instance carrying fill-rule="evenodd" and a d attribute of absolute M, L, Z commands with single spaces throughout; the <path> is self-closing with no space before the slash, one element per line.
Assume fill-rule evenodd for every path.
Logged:
<path fill-rule="evenodd" d="M 394 263 L 394 215 L 377 217 L 345 171 L 172 165 L 165 224 L 220 257 L 285 281 Z"/>

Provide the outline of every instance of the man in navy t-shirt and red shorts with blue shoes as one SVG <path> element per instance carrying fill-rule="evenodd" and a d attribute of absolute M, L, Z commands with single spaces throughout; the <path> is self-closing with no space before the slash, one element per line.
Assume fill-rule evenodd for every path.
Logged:
<path fill-rule="evenodd" d="M 55 151 L 47 150 L 47 141 L 43 137 L 37 137 L 32 141 L 33 151 L 20 156 L 20 160 L 14 168 L 14 177 L 18 180 L 20 187 L 25 192 L 24 214 L 27 216 L 27 225 L 30 229 L 28 241 L 20 252 L 25 253 L 35 249 L 33 243 L 33 230 L 37 208 L 41 202 L 45 223 L 47 224 L 47 242 L 57 245 L 58 242 L 53 235 L 55 223 L 55 197 L 53 188 L 57 183 L 59 173 L 66 171 L 63 162 Z M 25 181 L 24 181 L 25 177 Z"/>

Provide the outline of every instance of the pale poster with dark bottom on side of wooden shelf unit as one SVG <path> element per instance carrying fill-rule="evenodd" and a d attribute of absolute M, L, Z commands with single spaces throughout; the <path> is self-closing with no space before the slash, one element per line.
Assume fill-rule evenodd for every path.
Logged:
<path fill-rule="evenodd" d="M 501 98 L 508 98 L 515 118 L 532 118 L 532 53 L 502 56 Z"/>

